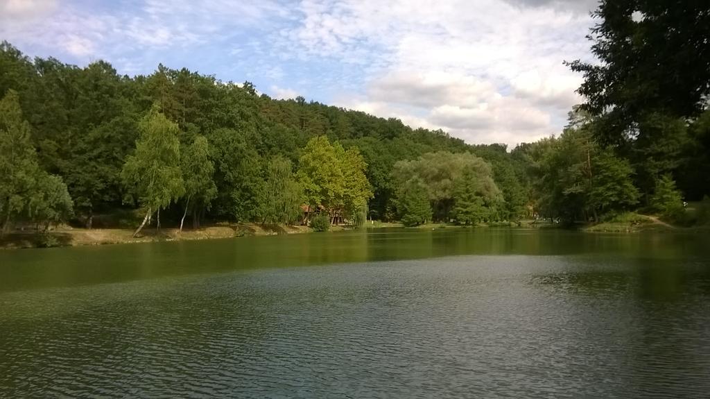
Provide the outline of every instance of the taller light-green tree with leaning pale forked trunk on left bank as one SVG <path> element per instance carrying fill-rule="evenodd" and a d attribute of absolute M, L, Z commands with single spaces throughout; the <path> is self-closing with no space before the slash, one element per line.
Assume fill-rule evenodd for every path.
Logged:
<path fill-rule="evenodd" d="M 185 193 L 180 170 L 178 125 L 153 106 L 138 124 L 138 133 L 136 152 L 129 155 L 121 170 L 124 184 L 146 210 L 134 237 L 155 212 L 158 212 L 157 227 L 160 229 L 160 209 L 168 207 Z"/>

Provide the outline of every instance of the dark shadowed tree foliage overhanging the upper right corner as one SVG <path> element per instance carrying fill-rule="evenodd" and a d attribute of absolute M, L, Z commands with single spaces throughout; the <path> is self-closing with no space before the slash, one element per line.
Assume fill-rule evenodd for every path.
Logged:
<path fill-rule="evenodd" d="M 621 142 L 650 112 L 699 114 L 710 94 L 710 3 L 603 0 L 591 51 L 601 63 L 571 62 L 584 74 L 583 109 L 602 116 L 605 141 Z"/>

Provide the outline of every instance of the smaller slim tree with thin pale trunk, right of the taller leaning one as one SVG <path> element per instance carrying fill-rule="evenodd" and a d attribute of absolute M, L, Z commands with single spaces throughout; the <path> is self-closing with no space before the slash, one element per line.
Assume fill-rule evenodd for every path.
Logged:
<path fill-rule="evenodd" d="M 201 207 L 209 207 L 209 203 L 217 197 L 217 186 L 212 180 L 214 163 L 209 158 L 207 138 L 196 136 L 195 141 L 185 150 L 182 151 L 180 159 L 185 187 L 185 212 L 182 212 L 180 219 L 180 231 L 190 209 L 190 202 L 192 202 L 192 212 L 195 214 Z"/>

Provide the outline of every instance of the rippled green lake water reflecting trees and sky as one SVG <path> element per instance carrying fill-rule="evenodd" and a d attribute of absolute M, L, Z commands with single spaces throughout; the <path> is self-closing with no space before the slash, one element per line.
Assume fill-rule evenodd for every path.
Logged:
<path fill-rule="evenodd" d="M 710 236 L 0 251 L 0 397 L 708 398 Z"/>

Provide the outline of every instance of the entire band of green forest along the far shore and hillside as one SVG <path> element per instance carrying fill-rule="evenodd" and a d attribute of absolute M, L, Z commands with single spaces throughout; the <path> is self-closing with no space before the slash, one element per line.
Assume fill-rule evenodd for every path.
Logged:
<path fill-rule="evenodd" d="M 180 229 L 185 219 L 327 228 L 598 222 L 638 210 L 704 223 L 685 217 L 684 202 L 709 202 L 710 11 L 664 4 L 602 2 L 591 35 L 601 63 L 568 62 L 586 102 L 563 131 L 515 148 L 271 99 L 185 68 L 130 77 L 3 42 L 2 231 L 106 226 L 101 215 L 116 211 L 141 215 L 136 234 L 161 218 Z"/>

